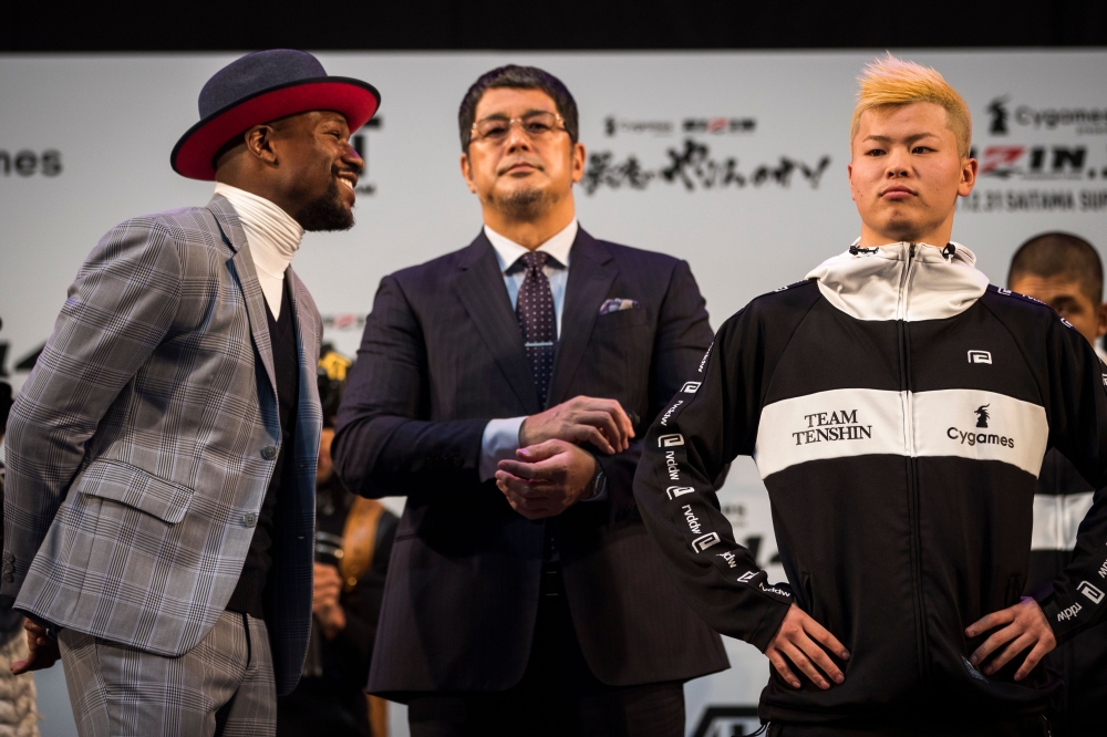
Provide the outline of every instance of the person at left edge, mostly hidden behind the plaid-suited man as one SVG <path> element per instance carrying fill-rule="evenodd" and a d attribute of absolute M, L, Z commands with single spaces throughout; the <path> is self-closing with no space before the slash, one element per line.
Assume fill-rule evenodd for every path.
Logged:
<path fill-rule="evenodd" d="M 0 381 L 0 444 L 3 444 L 11 405 L 11 384 Z M 4 465 L 0 463 L 0 541 L 3 539 L 3 478 Z M 0 596 L 0 737 L 39 737 L 34 675 L 15 675 L 8 667 L 28 656 L 23 615 L 11 605 L 11 596 Z"/>

